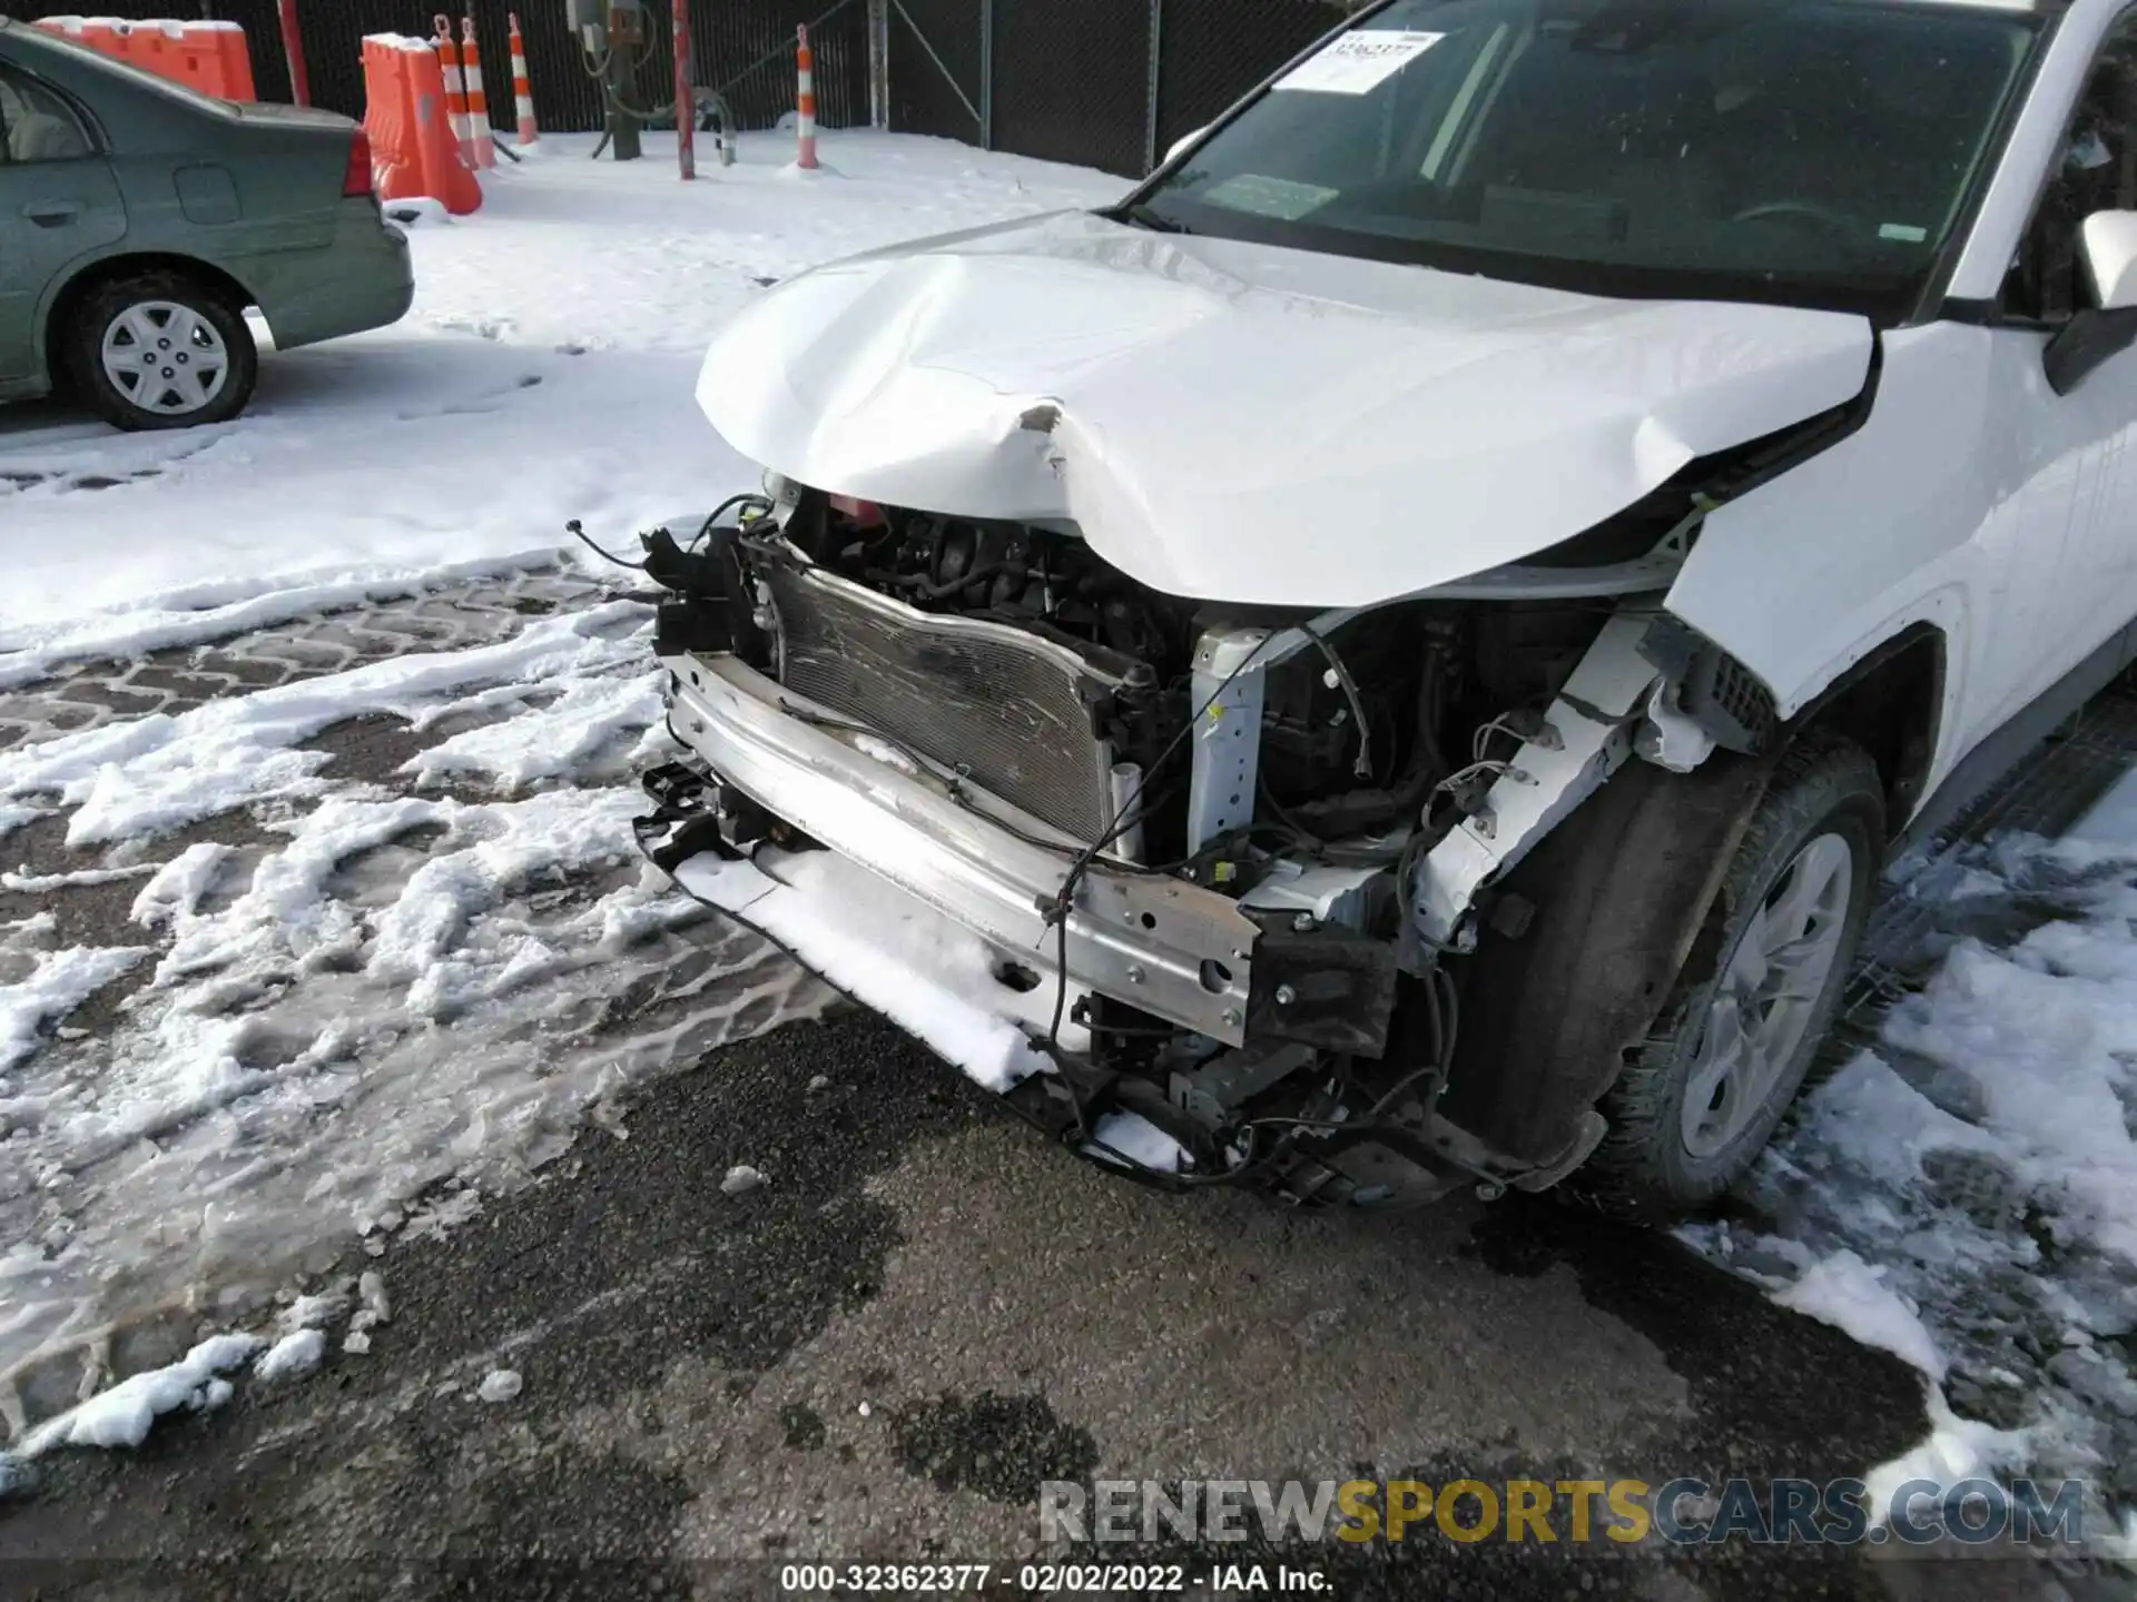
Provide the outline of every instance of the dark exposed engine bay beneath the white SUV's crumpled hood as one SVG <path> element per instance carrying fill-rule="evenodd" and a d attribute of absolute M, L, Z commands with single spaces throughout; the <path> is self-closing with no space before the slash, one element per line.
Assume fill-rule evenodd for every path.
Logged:
<path fill-rule="evenodd" d="M 1165 596 L 1073 534 L 1017 523 L 808 493 L 784 534 L 823 568 L 910 607 L 1030 630 L 1145 679 L 1152 694 L 1118 705 L 1105 731 L 1141 769 L 1143 863 L 1188 865 L 1177 735 L 1195 711 L 1197 641 L 1312 619 Z M 1419 600 L 1316 634 L 1312 651 L 1265 673 L 1252 822 L 1225 846 L 1248 865 L 1265 852 L 1355 857 L 1368 842 L 1393 861 L 1410 835 L 1460 816 L 1464 784 L 1487 780 L 1502 737 L 1541 720 L 1611 611 L 1601 598 Z M 1246 889 L 1242 876 L 1229 882 Z"/>

